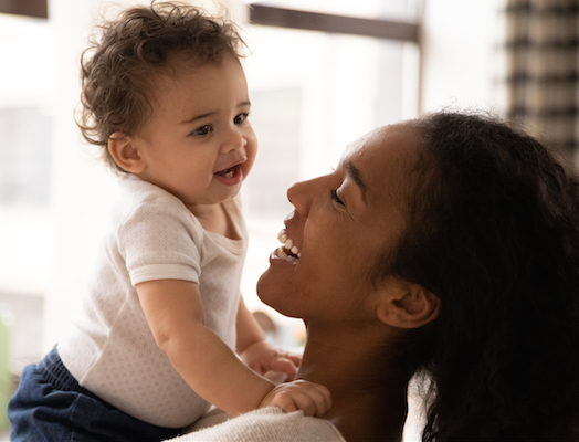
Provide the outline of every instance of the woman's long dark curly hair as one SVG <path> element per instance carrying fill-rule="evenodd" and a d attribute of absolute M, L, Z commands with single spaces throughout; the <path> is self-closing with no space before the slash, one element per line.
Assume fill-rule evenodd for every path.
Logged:
<path fill-rule="evenodd" d="M 394 272 L 441 299 L 424 441 L 579 440 L 579 187 L 536 139 L 436 113 Z"/>

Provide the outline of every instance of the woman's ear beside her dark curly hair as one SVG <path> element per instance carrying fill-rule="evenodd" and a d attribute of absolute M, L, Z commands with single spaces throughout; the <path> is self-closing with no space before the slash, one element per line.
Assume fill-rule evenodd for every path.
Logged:
<path fill-rule="evenodd" d="M 418 328 L 439 314 L 440 298 L 419 284 L 391 276 L 377 306 L 378 318 L 392 327 Z"/>

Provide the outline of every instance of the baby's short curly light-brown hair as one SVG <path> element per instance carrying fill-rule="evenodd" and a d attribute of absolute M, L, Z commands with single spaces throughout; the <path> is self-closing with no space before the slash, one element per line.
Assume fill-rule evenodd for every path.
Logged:
<path fill-rule="evenodd" d="M 124 171 L 108 154 L 117 131 L 135 134 L 151 114 L 151 83 L 176 53 L 200 63 L 219 62 L 223 54 L 241 57 L 244 45 L 231 21 L 209 17 L 179 2 L 156 2 L 124 11 L 99 25 L 99 38 L 81 56 L 83 137 L 102 147 L 102 157 Z"/>

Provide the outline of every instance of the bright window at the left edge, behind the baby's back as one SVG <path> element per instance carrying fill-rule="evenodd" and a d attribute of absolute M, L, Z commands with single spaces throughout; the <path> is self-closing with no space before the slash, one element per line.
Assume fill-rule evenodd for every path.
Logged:
<path fill-rule="evenodd" d="M 12 372 L 41 356 L 49 278 L 56 51 L 46 20 L 17 15 L 31 3 L 42 2 L 0 1 L 0 12 L 11 13 L 0 13 L 0 315 L 14 317 Z"/>

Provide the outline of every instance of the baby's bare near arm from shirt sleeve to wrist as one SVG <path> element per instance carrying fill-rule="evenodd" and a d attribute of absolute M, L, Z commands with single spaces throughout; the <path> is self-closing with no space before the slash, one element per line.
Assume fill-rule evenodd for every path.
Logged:
<path fill-rule="evenodd" d="M 246 367 L 204 326 L 197 284 L 148 281 L 137 284 L 137 294 L 157 345 L 183 380 L 208 402 L 236 415 L 260 407 L 274 390 L 273 382 Z M 284 408 L 282 403 L 272 404 Z"/>

